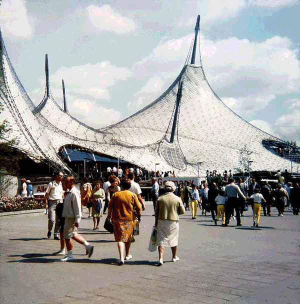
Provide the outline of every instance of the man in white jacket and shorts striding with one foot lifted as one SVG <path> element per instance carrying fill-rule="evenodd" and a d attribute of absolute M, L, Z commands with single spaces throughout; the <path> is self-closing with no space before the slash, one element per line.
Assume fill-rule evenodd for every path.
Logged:
<path fill-rule="evenodd" d="M 60 261 L 71 261 L 74 259 L 72 239 L 85 247 L 88 257 L 90 257 L 93 252 L 93 246 L 77 233 L 77 228 L 79 227 L 79 221 L 81 219 L 81 200 L 80 193 L 74 185 L 75 178 L 73 176 L 66 177 L 65 187 L 68 191 L 65 192 L 64 196 L 62 216 L 65 218 L 63 238 L 67 249 L 67 255 Z"/>

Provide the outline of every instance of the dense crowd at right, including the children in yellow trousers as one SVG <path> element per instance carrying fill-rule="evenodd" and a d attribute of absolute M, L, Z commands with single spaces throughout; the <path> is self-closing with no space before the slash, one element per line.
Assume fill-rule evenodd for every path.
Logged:
<path fill-rule="evenodd" d="M 287 174 L 287 175 L 286 175 Z M 278 216 L 283 216 L 284 208 L 293 210 L 293 214 L 299 214 L 300 188 L 296 183 L 294 187 L 290 181 L 285 182 L 282 175 L 289 176 L 285 170 L 282 174 L 277 170 L 277 184 L 272 188 L 268 181 L 264 180 L 258 184 L 254 177 L 248 177 L 243 182 L 243 177 L 234 179 L 231 170 L 225 170 L 222 174 L 222 182 L 216 184 L 212 181 L 216 171 L 206 171 L 206 180 L 199 186 L 186 182 L 176 189 L 176 194 L 182 200 L 185 210 L 191 210 L 191 219 L 196 218 L 197 206 L 201 215 L 207 216 L 211 213 L 212 221 L 217 224 L 222 215 L 222 226 L 228 226 L 231 217 L 237 221 L 237 226 L 242 225 L 240 216 L 251 206 L 253 211 L 253 226 L 258 227 L 260 211 L 264 216 L 271 216 L 271 205 L 275 204 Z M 235 211 L 235 212 L 234 212 Z"/>

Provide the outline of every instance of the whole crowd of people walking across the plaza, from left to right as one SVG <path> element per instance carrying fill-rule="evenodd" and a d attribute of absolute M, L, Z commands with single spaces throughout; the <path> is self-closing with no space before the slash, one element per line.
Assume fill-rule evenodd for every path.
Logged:
<path fill-rule="evenodd" d="M 195 219 L 197 208 L 202 216 L 211 214 L 211 221 L 217 225 L 228 226 L 231 219 L 236 219 L 236 225 L 241 226 L 243 212 L 251 206 L 253 226 L 259 227 L 261 209 L 265 216 L 271 216 L 271 204 L 275 202 L 278 216 L 283 216 L 284 208 L 292 208 L 298 215 L 300 188 L 298 184 L 292 187 L 291 182 L 285 184 L 277 171 L 277 185 L 272 189 L 267 181 L 258 184 L 255 178 L 248 177 L 249 182 L 243 182 L 242 177 L 234 179 L 231 170 L 223 172 L 221 184 L 217 184 L 209 171 L 206 179 L 199 186 L 179 184 L 172 181 L 164 183 L 164 194 L 159 195 L 159 186 L 155 177 L 151 178 L 151 197 L 157 232 L 158 246 L 157 265 L 163 264 L 163 253 L 166 246 L 171 248 L 172 261 L 178 261 L 177 240 L 179 215 L 191 211 L 191 219 Z M 133 231 L 138 226 L 141 211 L 145 209 L 141 198 L 141 189 L 134 181 L 134 172 L 118 178 L 110 175 L 103 184 L 100 180 L 90 183 L 83 178 L 80 191 L 75 187 L 75 179 L 68 176 L 64 179 L 62 172 L 55 174 L 55 179 L 47 185 L 45 206 L 48 210 L 47 237 L 53 232 L 54 239 L 60 240 L 60 249 L 53 255 L 65 255 L 61 261 L 73 260 L 72 240 L 82 244 L 90 257 L 93 246 L 83 236 L 77 233 L 82 216 L 82 208 L 88 208 L 88 217 L 92 217 L 92 230 L 99 229 L 100 218 L 106 215 L 105 221 L 112 221 L 114 238 L 117 243 L 119 261 L 131 259 L 130 244 L 134 241 Z M 235 182 L 236 181 L 236 182 Z M 65 250 L 66 247 L 66 250 Z"/>

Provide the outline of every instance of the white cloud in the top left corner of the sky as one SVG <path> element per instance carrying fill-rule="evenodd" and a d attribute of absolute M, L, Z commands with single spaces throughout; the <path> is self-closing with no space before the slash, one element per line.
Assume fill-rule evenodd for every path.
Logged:
<path fill-rule="evenodd" d="M 0 8 L 0 24 L 4 34 L 14 38 L 29 38 L 34 26 L 30 22 L 24 0 L 3 0 Z"/>

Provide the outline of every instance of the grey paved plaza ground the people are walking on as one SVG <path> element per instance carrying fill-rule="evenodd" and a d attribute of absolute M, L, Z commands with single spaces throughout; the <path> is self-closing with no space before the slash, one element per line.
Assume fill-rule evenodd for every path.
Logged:
<path fill-rule="evenodd" d="M 254 228 L 250 211 L 241 227 L 233 220 L 221 227 L 210 216 L 182 215 L 180 260 L 171 262 L 166 248 L 157 267 L 157 251 L 147 251 L 152 213 L 147 204 L 131 244 L 133 258 L 122 266 L 116 265 L 113 235 L 102 227 L 92 231 L 86 211 L 79 233 L 95 246 L 94 254 L 88 259 L 76 243 L 73 262 L 51 255 L 59 241 L 46 238 L 45 215 L 1 216 L 0 303 L 300 303 L 300 216 L 288 210 L 284 217 L 261 216 Z"/>

